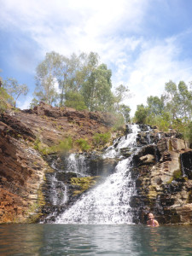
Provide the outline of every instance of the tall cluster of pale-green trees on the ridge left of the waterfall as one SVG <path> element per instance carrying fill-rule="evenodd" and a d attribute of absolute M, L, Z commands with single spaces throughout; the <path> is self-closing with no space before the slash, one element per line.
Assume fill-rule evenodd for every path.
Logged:
<path fill-rule="evenodd" d="M 129 92 L 119 85 L 112 92 L 112 72 L 106 64 L 99 64 L 99 55 L 81 53 L 66 57 L 54 51 L 47 53 L 36 69 L 37 87 L 34 96 L 38 102 L 82 110 L 122 113 L 129 119 L 129 107 L 119 103 Z M 60 91 L 55 88 L 59 86 Z M 60 102 L 60 104 L 58 104 Z M 32 102 L 32 106 L 37 104 Z"/>

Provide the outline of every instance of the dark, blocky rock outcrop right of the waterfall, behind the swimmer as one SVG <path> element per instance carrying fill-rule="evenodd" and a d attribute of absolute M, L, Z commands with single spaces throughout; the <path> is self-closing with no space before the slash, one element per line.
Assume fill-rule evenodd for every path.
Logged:
<path fill-rule="evenodd" d="M 160 224 L 192 223 L 192 150 L 173 132 L 161 133 L 161 137 L 152 134 L 155 143 L 133 157 L 132 175 L 137 177 L 137 195 L 131 198 L 134 221 L 146 223 L 147 213 L 154 212 Z"/>

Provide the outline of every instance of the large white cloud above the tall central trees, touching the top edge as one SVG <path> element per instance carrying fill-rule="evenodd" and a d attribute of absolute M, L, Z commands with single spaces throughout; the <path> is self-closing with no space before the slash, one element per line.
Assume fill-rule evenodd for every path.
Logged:
<path fill-rule="evenodd" d="M 106 38 L 121 30 L 139 29 L 148 1 L 143 0 L 7 0 L 2 4 L 4 28 L 29 33 L 46 51 L 95 50 L 102 54 Z"/>

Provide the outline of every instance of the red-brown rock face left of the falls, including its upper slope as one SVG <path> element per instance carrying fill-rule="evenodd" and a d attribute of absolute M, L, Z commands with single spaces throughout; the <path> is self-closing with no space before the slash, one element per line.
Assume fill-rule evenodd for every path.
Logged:
<path fill-rule="evenodd" d="M 91 143 L 107 132 L 113 117 L 101 113 L 52 108 L 0 114 L 0 223 L 35 221 L 44 205 L 41 186 L 50 167 L 34 149 L 38 140 L 49 147 L 65 137 Z"/>

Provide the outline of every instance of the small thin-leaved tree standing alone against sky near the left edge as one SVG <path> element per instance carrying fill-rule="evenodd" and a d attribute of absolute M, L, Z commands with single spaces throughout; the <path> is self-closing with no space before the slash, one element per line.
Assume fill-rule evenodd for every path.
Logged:
<path fill-rule="evenodd" d="M 28 87 L 26 84 L 19 84 L 16 79 L 6 79 L 3 81 L 3 88 L 7 90 L 9 94 L 9 102 L 16 107 L 16 102 L 21 95 L 26 96 L 28 93 Z"/>

